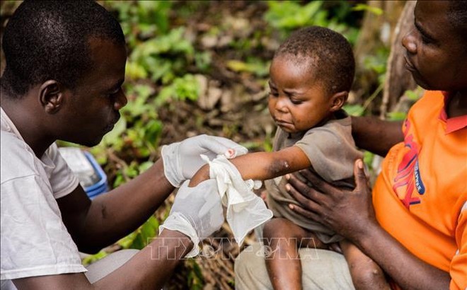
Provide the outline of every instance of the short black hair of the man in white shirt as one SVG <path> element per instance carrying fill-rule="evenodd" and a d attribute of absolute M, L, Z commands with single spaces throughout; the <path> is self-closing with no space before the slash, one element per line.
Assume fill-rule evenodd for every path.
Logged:
<path fill-rule="evenodd" d="M 2 90 L 20 98 L 50 79 L 75 88 L 93 66 L 91 37 L 125 45 L 120 23 L 95 1 L 25 0 L 5 28 Z"/>

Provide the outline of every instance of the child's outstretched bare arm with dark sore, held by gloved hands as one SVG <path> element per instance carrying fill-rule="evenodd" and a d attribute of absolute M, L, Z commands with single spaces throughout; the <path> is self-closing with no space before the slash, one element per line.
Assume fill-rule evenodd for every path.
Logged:
<path fill-rule="evenodd" d="M 287 173 L 309 168 L 309 158 L 297 146 L 275 152 L 255 152 L 230 160 L 243 180 L 267 180 Z M 209 179 L 209 165 L 203 166 L 190 180 L 190 187 Z"/>

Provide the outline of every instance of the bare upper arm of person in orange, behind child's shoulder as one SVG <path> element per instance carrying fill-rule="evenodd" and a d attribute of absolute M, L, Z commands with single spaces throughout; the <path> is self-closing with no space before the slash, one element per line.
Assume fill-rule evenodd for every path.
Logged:
<path fill-rule="evenodd" d="M 376 117 L 352 117 L 352 136 L 357 147 L 380 156 L 386 156 L 392 146 L 404 140 L 402 122 Z"/>

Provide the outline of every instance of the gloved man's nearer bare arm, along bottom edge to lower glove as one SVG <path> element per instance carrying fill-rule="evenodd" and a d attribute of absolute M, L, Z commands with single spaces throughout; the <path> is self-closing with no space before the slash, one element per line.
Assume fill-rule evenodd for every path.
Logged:
<path fill-rule="evenodd" d="M 193 246 L 178 231 L 164 230 L 122 267 L 90 284 L 83 273 L 14 279 L 18 289 L 162 289 L 178 262 Z"/>

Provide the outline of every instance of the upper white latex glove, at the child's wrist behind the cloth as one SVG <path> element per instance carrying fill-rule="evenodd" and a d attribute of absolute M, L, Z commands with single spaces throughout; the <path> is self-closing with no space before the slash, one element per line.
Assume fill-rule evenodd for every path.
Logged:
<path fill-rule="evenodd" d="M 234 141 L 203 134 L 162 146 L 163 172 L 171 185 L 180 187 L 183 181 L 191 179 L 205 164 L 201 154 L 213 159 L 217 155 L 235 158 L 247 152 L 248 149 Z"/>

